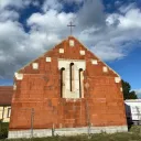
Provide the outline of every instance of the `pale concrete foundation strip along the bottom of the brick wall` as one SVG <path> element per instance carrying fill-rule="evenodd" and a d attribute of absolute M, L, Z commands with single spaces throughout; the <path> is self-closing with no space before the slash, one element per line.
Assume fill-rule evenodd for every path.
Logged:
<path fill-rule="evenodd" d="M 62 129 L 55 129 L 54 131 L 52 129 L 34 129 L 33 133 L 31 130 L 18 130 L 18 131 L 9 131 L 8 138 L 31 138 L 32 134 L 34 138 L 37 137 L 52 137 L 54 135 L 77 135 L 82 133 L 115 133 L 115 132 L 127 132 L 128 127 L 127 126 L 112 126 L 112 127 L 84 127 L 84 128 L 62 128 Z"/>

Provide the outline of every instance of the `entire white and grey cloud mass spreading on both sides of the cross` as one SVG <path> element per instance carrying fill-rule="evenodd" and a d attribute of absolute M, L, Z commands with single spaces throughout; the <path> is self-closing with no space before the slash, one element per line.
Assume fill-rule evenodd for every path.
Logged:
<path fill-rule="evenodd" d="M 33 13 L 26 20 L 30 31 L 25 32 L 23 25 L 18 22 L 19 13 L 4 8 L 14 4 L 22 9 L 28 7 L 31 0 L 21 4 L 17 1 L 13 3 L 10 0 L 2 0 L 0 3 L 0 77 L 12 76 L 14 70 L 67 37 L 69 21 L 76 24 L 74 35 L 105 61 L 126 57 L 132 42 L 141 40 L 139 24 L 141 12 L 138 8 L 130 7 L 124 14 L 106 15 L 100 0 L 74 1 L 84 2 L 84 6 L 76 13 L 65 13 L 62 11 L 63 3 L 58 0 L 46 0 L 42 8 L 44 12 Z"/>

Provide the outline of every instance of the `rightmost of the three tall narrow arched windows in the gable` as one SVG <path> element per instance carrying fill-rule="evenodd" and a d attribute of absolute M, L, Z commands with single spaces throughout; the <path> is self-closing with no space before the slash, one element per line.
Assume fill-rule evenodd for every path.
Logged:
<path fill-rule="evenodd" d="M 84 97 L 84 83 L 83 83 L 83 69 L 79 68 L 79 97 Z"/>

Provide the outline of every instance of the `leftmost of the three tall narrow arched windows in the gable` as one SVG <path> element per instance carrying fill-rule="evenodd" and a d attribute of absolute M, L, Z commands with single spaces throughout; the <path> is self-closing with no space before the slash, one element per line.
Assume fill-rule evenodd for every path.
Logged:
<path fill-rule="evenodd" d="M 65 68 L 61 68 L 61 97 L 65 95 Z"/>

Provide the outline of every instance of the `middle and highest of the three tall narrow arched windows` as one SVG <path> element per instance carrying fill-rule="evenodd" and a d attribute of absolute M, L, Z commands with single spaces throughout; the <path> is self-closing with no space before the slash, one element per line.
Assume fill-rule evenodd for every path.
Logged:
<path fill-rule="evenodd" d="M 74 79 L 74 63 L 70 63 L 69 65 L 69 72 L 70 72 L 70 76 L 69 76 L 69 86 L 70 86 L 70 91 L 74 91 L 74 83 L 75 83 L 75 79 Z"/>

